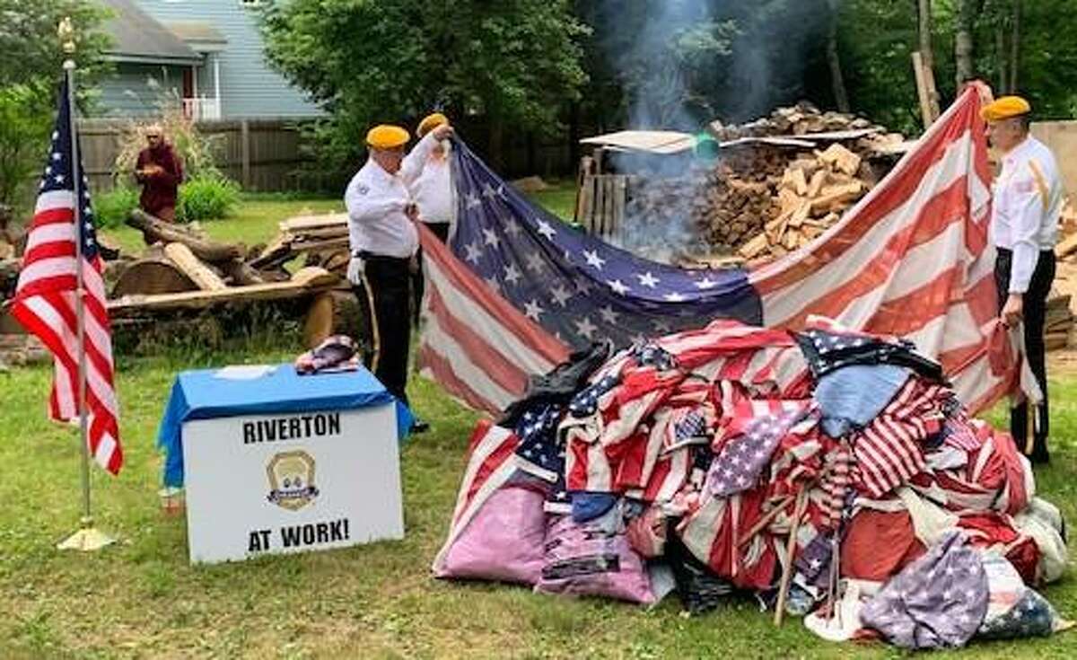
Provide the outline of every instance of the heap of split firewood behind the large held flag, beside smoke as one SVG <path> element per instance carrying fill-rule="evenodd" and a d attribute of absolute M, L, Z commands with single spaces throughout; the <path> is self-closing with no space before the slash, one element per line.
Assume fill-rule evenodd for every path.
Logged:
<path fill-rule="evenodd" d="M 885 176 L 905 145 L 868 120 L 810 104 L 738 126 L 714 122 L 709 129 L 722 141 L 713 165 L 694 165 L 683 176 L 630 178 L 620 239 L 626 248 L 676 264 L 713 255 L 782 257 L 835 224 Z"/>

